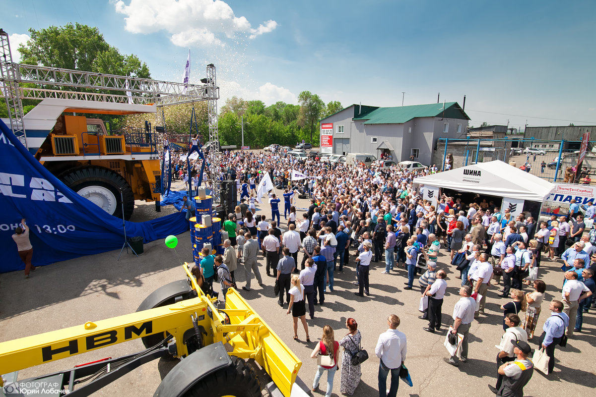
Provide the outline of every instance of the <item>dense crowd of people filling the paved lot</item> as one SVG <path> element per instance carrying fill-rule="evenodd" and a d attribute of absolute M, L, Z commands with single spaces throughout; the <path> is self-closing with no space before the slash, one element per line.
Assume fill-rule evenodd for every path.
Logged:
<path fill-rule="evenodd" d="M 275 277 L 279 290 L 278 304 L 293 317 L 295 340 L 300 339 L 300 320 L 306 342 L 311 342 L 306 312 L 314 318 L 315 305 L 325 305 L 325 295 L 333 293 L 336 287 L 334 277 L 343 277 L 343 267 L 350 260 L 356 264 L 353 283 L 359 287 L 355 295 L 361 299 L 370 295 L 368 273 L 374 262 L 384 261 L 384 274 L 407 268 L 403 289 L 420 286 L 420 318 L 429 321 L 423 329 L 430 333 L 448 326 L 442 321 L 445 279 L 448 273 L 455 272 L 455 277 L 461 279 L 460 299 L 448 332 L 460 337 L 461 349 L 445 361 L 455 366 L 467 361 L 471 323 L 486 315 L 489 284 L 501 286 L 499 297 L 511 300 L 501 306 L 504 335 L 496 358 L 496 385 L 489 387 L 498 395 L 508 395 L 511 390 L 519 392 L 532 376 L 528 342 L 534 338 L 547 287 L 539 278 L 541 262 L 560 260 L 564 270 L 561 298 L 550 302 L 550 314 L 536 341 L 536 348 L 544 348 L 550 357 L 549 372 L 554 368 L 555 346 L 574 332 L 581 332 L 583 314 L 594 308 L 594 271 L 590 267 L 596 261 L 596 236 L 585 232 L 584 215 L 579 209 L 570 211 L 569 218 L 537 222 L 527 213 L 512 214 L 508 208 L 501 211 L 491 199 L 479 196 L 467 205 L 460 198 L 445 194 L 436 204 L 425 201 L 425 187 L 416 186 L 414 179 L 429 174 L 428 169 L 326 164 L 315 159 L 299 161 L 284 157 L 283 153 L 225 152 L 223 159 L 219 177 L 236 179 L 242 198 L 235 213 L 229 214 L 224 223 L 229 236 L 226 249 L 237 249 L 237 254 L 228 255 L 234 260 L 228 260 L 226 265 L 244 265 L 247 282 L 242 289 L 250 291 L 252 277 L 263 285 L 256 263 L 259 253 L 266 258 L 266 274 Z M 292 170 L 307 178 L 292 181 Z M 265 173 L 283 193 L 278 197 L 269 192 L 269 198 L 260 206 L 265 214 L 259 216 L 255 214 L 254 188 Z M 311 202 L 303 214 L 297 213 L 297 195 Z M 284 221 L 280 222 L 282 200 Z M 271 209 L 271 217 L 267 208 Z M 591 208 L 590 204 L 585 212 L 593 220 Z M 280 223 L 287 230 L 281 229 Z M 437 261 L 440 251 L 450 258 L 443 268 Z M 216 263 L 224 262 L 224 258 L 218 258 Z M 211 262 L 206 263 L 207 267 L 210 265 Z M 229 281 L 234 282 L 233 271 Z M 222 292 L 227 287 L 222 282 Z M 524 287 L 532 290 L 524 293 Z M 381 335 L 375 349 L 381 359 L 379 393 L 395 396 L 398 382 L 394 385 L 393 377 L 398 379 L 405 361 L 406 338 L 396 332 L 399 317 L 392 315 L 387 321 L 387 335 Z M 346 349 L 341 389 L 350 395 L 361 374 L 359 367 L 349 366 L 352 355 L 358 351 L 360 334 L 352 318 L 346 321 L 346 327 L 348 334 L 339 342 Z M 327 371 L 327 396 L 339 369 L 336 345 L 333 329 L 326 326 L 312 353 L 313 357 L 330 354 L 334 358 L 333 365 L 318 365 L 313 382 L 316 390 L 322 373 Z M 389 372 L 392 383 L 386 390 L 384 382 Z"/>

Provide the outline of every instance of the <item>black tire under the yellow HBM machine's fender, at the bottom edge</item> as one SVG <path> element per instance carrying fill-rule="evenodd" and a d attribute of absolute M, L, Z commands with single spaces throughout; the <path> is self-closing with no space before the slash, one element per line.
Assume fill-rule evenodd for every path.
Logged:
<path fill-rule="evenodd" d="M 260 382 L 253 368 L 232 356 L 232 365 L 216 371 L 191 387 L 184 397 L 260 397 Z"/>

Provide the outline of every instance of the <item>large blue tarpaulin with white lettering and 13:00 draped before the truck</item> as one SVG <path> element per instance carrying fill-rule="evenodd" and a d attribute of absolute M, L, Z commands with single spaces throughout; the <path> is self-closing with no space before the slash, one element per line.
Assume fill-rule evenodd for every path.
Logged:
<path fill-rule="evenodd" d="M 33 265 L 99 254 L 122 248 L 122 219 L 108 215 L 60 182 L 21 145 L 0 121 L 0 273 L 24 269 L 12 239 L 26 218 L 33 245 Z M 144 242 L 188 230 L 185 213 L 150 221 L 125 222 L 126 236 Z M 92 265 L 91 263 L 89 265 Z"/>

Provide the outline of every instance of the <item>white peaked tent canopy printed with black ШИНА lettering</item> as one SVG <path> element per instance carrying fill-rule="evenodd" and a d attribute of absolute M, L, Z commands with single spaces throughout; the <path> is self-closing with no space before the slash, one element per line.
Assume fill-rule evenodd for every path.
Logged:
<path fill-rule="evenodd" d="M 414 179 L 417 185 L 446 187 L 460 192 L 540 201 L 555 185 L 501 160 L 480 162 Z"/>

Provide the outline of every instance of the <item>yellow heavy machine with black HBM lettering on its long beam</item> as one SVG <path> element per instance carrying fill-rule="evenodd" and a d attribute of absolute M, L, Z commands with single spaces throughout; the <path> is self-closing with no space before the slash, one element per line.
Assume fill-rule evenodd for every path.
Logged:
<path fill-rule="evenodd" d="M 252 360 L 285 397 L 305 396 L 294 383 L 302 362 L 240 294 L 230 288 L 225 308 L 218 310 L 187 266 L 184 270 L 187 279 L 160 287 L 133 314 L 0 343 L 4 393 L 88 396 L 139 365 L 166 357 L 180 361 L 154 397 L 260 397 Z M 13 372 L 138 338 L 146 349 L 135 354 L 24 380 Z"/>

